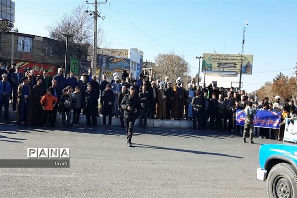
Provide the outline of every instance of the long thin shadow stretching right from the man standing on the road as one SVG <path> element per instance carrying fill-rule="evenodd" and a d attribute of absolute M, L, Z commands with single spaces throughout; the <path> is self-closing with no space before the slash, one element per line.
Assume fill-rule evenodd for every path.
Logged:
<path fill-rule="evenodd" d="M 228 154 L 223 154 L 223 153 L 215 153 L 215 152 L 186 150 L 186 149 L 180 149 L 180 148 L 165 148 L 165 147 L 157 147 L 157 146 L 142 145 L 142 144 L 133 144 L 133 145 L 140 145 L 140 146 L 132 146 L 133 148 L 153 148 L 153 149 L 162 149 L 162 150 L 174 150 L 174 151 L 180 151 L 180 152 L 190 152 L 190 153 L 194 153 L 194 154 L 209 154 L 209 155 L 218 155 L 218 156 L 225 156 L 225 157 L 234 157 L 234 158 L 238 158 L 238 159 L 244 158 L 244 157 L 233 156 L 233 155 L 228 155 Z"/>

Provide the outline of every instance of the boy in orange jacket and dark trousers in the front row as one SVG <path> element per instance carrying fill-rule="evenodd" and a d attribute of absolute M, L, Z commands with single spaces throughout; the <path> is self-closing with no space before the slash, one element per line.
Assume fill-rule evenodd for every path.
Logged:
<path fill-rule="evenodd" d="M 48 127 L 51 123 L 52 109 L 57 103 L 58 99 L 50 94 L 50 89 L 47 89 L 47 94 L 42 97 L 40 103 L 45 111 L 45 127 Z M 49 119 L 48 119 L 49 116 Z"/>

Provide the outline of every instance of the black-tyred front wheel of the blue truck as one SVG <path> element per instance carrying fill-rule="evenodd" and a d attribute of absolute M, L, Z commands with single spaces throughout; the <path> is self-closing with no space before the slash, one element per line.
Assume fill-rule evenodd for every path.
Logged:
<path fill-rule="evenodd" d="M 267 180 L 269 198 L 297 198 L 297 174 L 290 164 L 273 166 Z"/>

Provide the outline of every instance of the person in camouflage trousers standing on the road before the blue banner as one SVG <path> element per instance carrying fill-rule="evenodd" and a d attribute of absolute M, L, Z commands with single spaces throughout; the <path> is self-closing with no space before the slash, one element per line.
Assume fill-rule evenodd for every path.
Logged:
<path fill-rule="evenodd" d="M 252 141 L 253 135 L 253 117 L 257 113 L 256 109 L 252 107 L 252 102 L 248 102 L 248 106 L 245 108 L 246 123 L 244 128 L 244 143 L 246 143 L 247 130 L 249 128 L 249 143 L 254 144 Z"/>

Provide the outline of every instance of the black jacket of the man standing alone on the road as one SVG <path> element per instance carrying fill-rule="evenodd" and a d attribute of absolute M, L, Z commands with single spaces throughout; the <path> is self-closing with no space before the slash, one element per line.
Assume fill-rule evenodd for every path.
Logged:
<path fill-rule="evenodd" d="M 131 110 L 128 110 L 128 106 L 131 107 Z M 133 98 L 130 98 L 130 94 L 126 94 L 124 96 L 124 99 L 121 102 L 121 108 L 124 109 L 124 118 L 130 119 L 130 120 L 135 120 L 138 117 L 139 114 L 139 109 L 140 109 L 140 99 L 138 95 L 134 94 Z M 137 112 L 134 113 L 137 109 Z"/>

